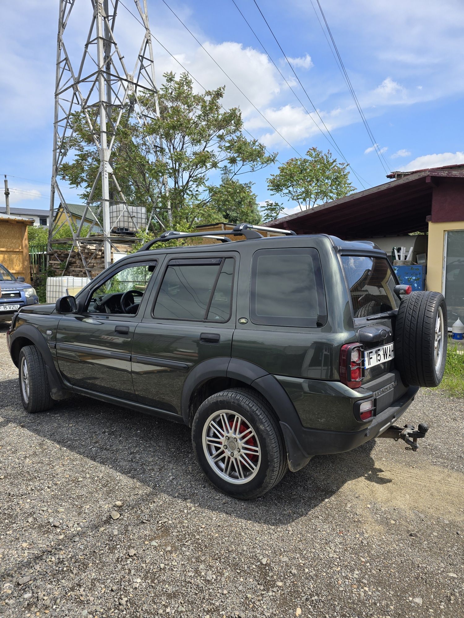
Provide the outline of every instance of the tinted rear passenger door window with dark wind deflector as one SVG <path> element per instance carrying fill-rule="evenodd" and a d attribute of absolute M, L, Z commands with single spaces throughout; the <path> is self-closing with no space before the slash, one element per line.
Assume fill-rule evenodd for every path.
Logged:
<path fill-rule="evenodd" d="M 226 322 L 230 319 L 234 259 L 171 260 L 153 317 Z"/>

